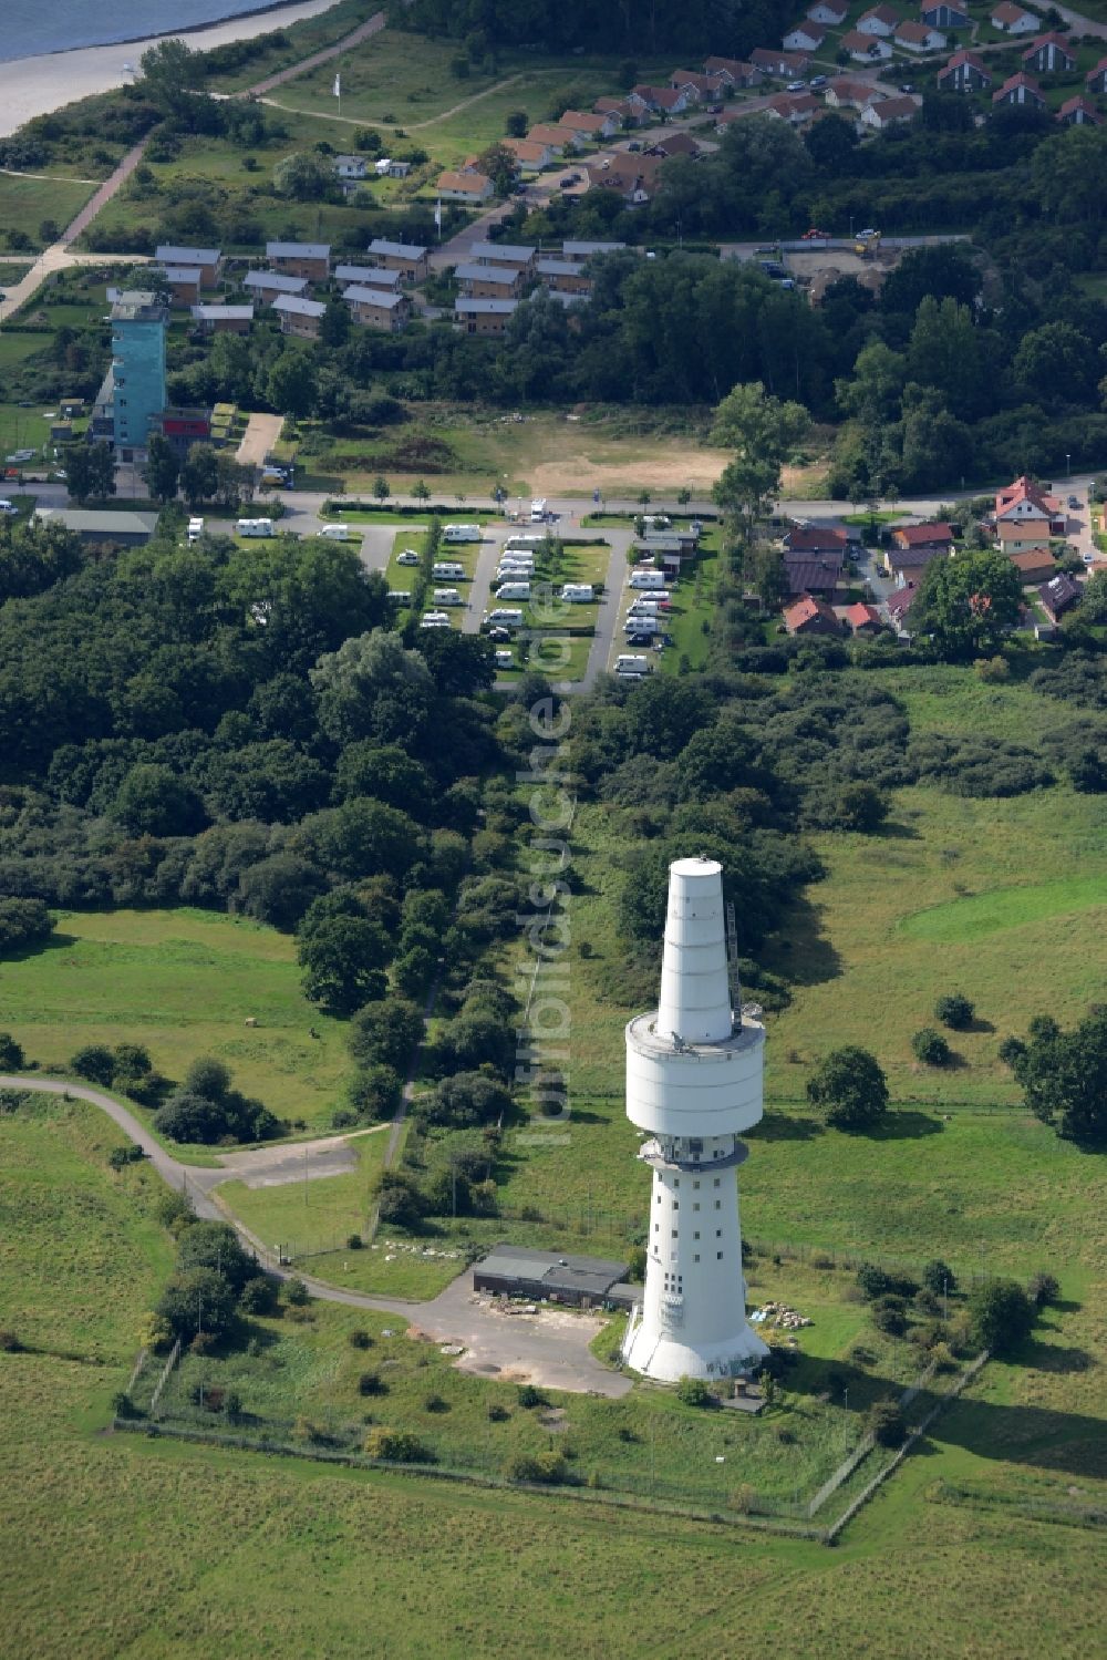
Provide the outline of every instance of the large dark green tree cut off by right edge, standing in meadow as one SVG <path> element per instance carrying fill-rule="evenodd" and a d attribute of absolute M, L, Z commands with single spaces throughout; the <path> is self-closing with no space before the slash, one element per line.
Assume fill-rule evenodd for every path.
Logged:
<path fill-rule="evenodd" d="M 1107 1134 L 1107 1008 L 1062 1031 L 1039 1018 L 1012 1069 L 1026 1104 L 1042 1122 L 1075 1142 L 1097 1142 Z"/>

